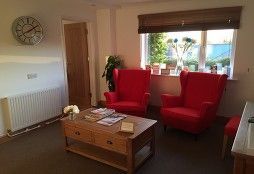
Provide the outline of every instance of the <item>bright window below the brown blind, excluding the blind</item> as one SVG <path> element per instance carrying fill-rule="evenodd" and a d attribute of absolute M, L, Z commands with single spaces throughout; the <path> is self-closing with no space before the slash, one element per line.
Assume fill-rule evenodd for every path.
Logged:
<path fill-rule="evenodd" d="M 145 65 L 163 64 L 170 74 L 178 68 L 218 74 L 232 72 L 234 29 L 181 31 L 142 34 L 142 59 Z M 166 66 L 165 66 L 166 64 Z"/>

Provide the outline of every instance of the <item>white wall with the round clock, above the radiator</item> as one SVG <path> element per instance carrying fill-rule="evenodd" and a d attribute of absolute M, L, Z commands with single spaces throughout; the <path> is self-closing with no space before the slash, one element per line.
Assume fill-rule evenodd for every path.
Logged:
<path fill-rule="evenodd" d="M 66 104 L 61 19 L 94 23 L 96 12 L 82 0 L 0 0 L 0 98 L 10 94 L 58 85 Z M 25 46 L 11 33 L 12 22 L 19 16 L 38 19 L 45 32 L 41 43 Z M 97 50 L 96 50 L 97 51 Z M 28 73 L 38 78 L 27 79 Z M 0 135 L 5 132 L 0 106 Z"/>

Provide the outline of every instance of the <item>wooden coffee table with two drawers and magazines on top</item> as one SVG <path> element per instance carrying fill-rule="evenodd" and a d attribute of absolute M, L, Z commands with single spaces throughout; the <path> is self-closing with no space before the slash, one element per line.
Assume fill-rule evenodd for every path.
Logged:
<path fill-rule="evenodd" d="M 67 151 L 134 173 L 155 152 L 156 120 L 128 116 L 134 133 L 120 132 L 121 121 L 103 126 L 84 120 L 93 108 L 80 112 L 75 120 L 61 119 Z"/>

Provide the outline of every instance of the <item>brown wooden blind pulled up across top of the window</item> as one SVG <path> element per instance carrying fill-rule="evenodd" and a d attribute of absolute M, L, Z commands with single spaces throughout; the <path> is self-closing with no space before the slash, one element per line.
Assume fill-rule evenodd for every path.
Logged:
<path fill-rule="evenodd" d="M 242 7 L 139 15 L 138 33 L 239 29 Z"/>

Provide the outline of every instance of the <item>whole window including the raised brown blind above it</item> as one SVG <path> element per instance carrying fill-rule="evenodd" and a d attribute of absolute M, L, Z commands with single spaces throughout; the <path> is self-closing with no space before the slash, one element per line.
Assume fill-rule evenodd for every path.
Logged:
<path fill-rule="evenodd" d="M 162 74 L 187 69 L 232 77 L 241 11 L 236 6 L 138 15 L 141 64 L 152 64 L 153 73 L 163 63 Z"/>

